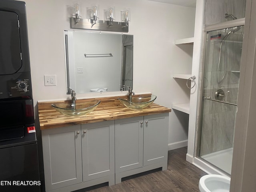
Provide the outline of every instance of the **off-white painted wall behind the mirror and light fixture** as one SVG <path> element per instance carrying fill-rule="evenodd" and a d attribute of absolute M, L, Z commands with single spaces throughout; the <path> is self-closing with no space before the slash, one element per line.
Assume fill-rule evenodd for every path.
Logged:
<path fill-rule="evenodd" d="M 83 12 L 93 2 L 83 0 Z M 114 4 L 116 20 L 120 20 L 119 10 L 130 7 L 128 34 L 134 35 L 134 92 L 152 92 L 157 96 L 156 103 L 168 108 L 172 104 L 189 102 L 186 82 L 174 80 L 172 74 L 191 72 L 192 51 L 175 46 L 174 40 L 194 36 L 195 8 L 147 0 L 97 2 L 100 13 Z M 26 0 L 35 104 L 38 100 L 70 98 L 66 95 L 63 37 L 63 30 L 70 29 L 67 11 L 70 4 L 72 0 Z M 44 74 L 55 74 L 57 86 L 44 86 Z M 170 113 L 169 143 L 187 139 L 187 124 L 188 116 Z"/>

